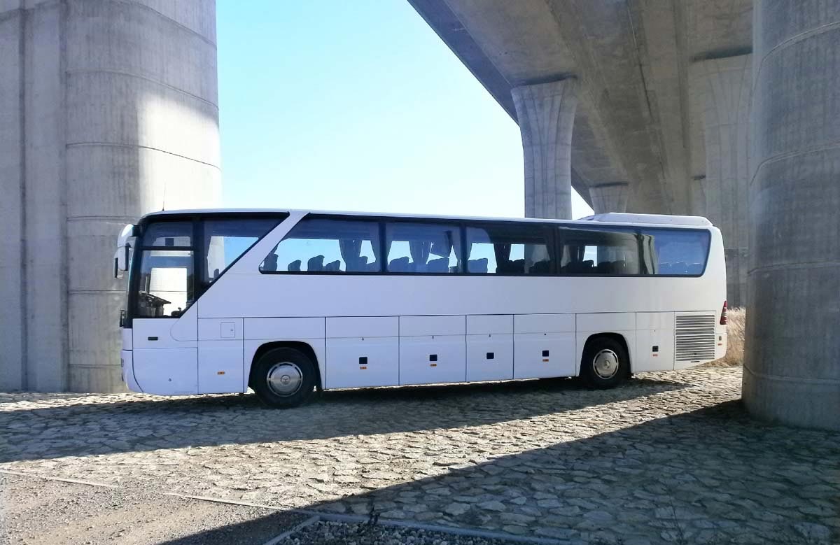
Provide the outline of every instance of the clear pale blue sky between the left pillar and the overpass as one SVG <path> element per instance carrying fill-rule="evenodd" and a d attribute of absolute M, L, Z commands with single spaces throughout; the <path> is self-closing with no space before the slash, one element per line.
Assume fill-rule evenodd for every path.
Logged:
<path fill-rule="evenodd" d="M 217 21 L 226 207 L 522 216 L 517 124 L 405 0 L 218 0 Z"/>

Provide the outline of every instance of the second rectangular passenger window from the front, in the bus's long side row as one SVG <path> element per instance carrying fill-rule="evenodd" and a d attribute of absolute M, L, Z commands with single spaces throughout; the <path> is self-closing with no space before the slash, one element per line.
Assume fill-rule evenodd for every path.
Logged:
<path fill-rule="evenodd" d="M 460 228 L 442 223 L 386 223 L 389 272 L 460 272 Z"/>

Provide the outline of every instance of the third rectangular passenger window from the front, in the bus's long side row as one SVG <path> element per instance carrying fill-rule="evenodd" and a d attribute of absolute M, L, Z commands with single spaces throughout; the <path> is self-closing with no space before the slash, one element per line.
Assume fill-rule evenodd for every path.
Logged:
<path fill-rule="evenodd" d="M 467 228 L 467 272 L 548 275 L 554 269 L 551 233 L 542 224 L 496 223 Z"/>

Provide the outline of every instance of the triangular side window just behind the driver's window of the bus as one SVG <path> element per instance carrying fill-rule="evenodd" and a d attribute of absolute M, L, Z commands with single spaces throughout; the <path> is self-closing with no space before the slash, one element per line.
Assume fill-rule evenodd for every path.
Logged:
<path fill-rule="evenodd" d="M 203 282 L 212 283 L 256 241 L 280 223 L 279 219 L 220 219 L 204 223 L 202 250 L 206 256 Z"/>

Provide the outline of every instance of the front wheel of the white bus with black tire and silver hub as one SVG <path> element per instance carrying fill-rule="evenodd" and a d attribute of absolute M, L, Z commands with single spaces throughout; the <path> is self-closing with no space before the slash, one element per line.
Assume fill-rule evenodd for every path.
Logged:
<path fill-rule="evenodd" d="M 301 405 L 312 396 L 315 362 L 295 348 L 272 348 L 251 369 L 251 388 L 260 401 L 277 409 Z"/>

